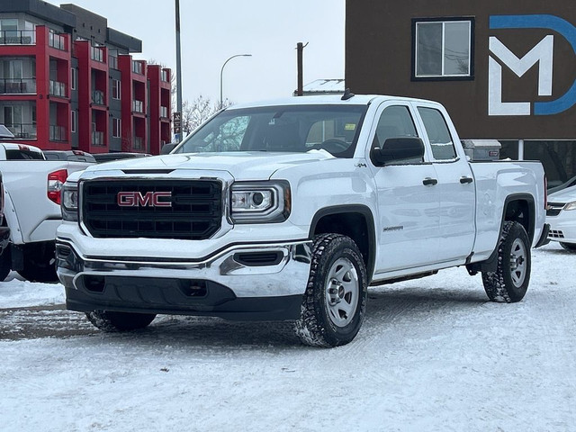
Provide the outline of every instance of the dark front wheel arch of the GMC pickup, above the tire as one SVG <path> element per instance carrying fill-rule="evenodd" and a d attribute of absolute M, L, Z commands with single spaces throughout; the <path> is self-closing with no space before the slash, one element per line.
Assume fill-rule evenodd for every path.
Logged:
<path fill-rule="evenodd" d="M 311 221 L 309 238 L 336 233 L 352 238 L 365 262 L 368 281 L 372 280 L 376 259 L 374 215 L 362 204 L 337 205 L 320 209 Z"/>

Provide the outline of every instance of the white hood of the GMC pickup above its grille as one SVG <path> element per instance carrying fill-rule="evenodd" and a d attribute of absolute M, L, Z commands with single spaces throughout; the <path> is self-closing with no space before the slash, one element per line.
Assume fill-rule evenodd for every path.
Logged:
<path fill-rule="evenodd" d="M 111 170 L 198 170 L 224 171 L 236 180 L 264 180 L 277 170 L 287 166 L 308 164 L 334 158 L 325 150 L 311 150 L 307 153 L 270 152 L 229 152 L 229 153 L 187 153 L 157 157 L 123 159 L 90 166 L 87 172 Z"/>

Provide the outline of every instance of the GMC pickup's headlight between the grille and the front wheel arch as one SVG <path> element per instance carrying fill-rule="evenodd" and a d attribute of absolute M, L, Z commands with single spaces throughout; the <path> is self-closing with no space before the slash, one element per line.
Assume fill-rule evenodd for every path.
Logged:
<path fill-rule="evenodd" d="M 230 188 L 230 216 L 235 223 L 284 222 L 291 205 L 286 181 L 238 182 Z"/>

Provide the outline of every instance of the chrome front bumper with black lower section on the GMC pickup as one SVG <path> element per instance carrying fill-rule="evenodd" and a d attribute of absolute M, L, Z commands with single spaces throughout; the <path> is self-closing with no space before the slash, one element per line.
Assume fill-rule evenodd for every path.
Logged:
<path fill-rule="evenodd" d="M 295 319 L 311 266 L 310 241 L 228 247 L 198 261 L 85 257 L 59 240 L 56 250 L 74 311 Z"/>

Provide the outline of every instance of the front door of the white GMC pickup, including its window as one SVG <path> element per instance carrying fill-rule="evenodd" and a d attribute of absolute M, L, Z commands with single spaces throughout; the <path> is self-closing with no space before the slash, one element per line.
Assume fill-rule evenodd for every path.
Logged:
<path fill-rule="evenodd" d="M 388 138 L 419 136 L 408 103 L 383 103 L 376 119 L 371 132 L 373 147 L 382 147 Z M 371 163 L 371 169 L 379 211 L 375 279 L 378 274 L 436 262 L 439 193 L 428 155 L 387 166 Z"/>

